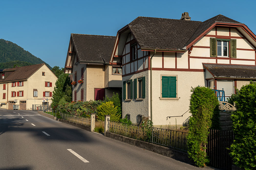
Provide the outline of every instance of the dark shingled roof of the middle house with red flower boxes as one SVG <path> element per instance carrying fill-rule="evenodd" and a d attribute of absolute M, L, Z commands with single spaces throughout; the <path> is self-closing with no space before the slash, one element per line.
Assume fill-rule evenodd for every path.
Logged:
<path fill-rule="evenodd" d="M 83 62 L 108 62 L 115 36 L 71 34 L 77 55 Z"/>

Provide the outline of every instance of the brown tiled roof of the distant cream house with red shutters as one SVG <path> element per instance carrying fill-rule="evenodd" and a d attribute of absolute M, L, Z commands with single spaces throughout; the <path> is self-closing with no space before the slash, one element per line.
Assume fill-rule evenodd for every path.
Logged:
<path fill-rule="evenodd" d="M 12 72 L 8 77 L 1 82 L 7 81 L 16 81 L 16 80 L 24 80 L 31 76 L 34 72 L 36 72 L 40 67 L 42 67 L 45 63 L 34 64 L 31 66 L 23 66 L 23 67 L 15 67 L 10 69 L 4 69 L 3 72 Z"/>

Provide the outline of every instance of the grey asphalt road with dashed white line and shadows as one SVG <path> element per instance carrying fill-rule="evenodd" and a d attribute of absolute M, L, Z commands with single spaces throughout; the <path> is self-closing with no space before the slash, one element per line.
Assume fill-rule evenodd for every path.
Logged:
<path fill-rule="evenodd" d="M 0 109 L 0 169 L 211 168 L 197 168 L 35 111 Z"/>

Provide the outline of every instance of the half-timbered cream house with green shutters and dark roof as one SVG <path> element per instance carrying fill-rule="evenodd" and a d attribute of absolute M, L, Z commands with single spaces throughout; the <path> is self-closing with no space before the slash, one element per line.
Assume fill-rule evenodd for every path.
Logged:
<path fill-rule="evenodd" d="M 118 31 L 110 59 L 122 58 L 123 117 L 182 126 L 190 116 L 191 86 L 223 88 L 227 98 L 234 86 L 256 79 L 255 46 L 245 24 L 223 15 L 204 22 L 187 12 L 179 20 L 136 18 Z"/>

